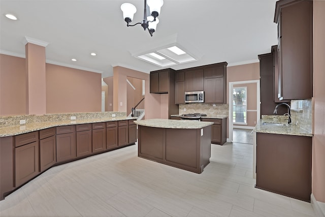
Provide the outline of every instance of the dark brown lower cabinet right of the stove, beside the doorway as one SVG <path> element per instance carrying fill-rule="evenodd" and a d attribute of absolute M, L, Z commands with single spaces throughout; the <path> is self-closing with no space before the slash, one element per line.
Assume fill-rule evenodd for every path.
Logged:
<path fill-rule="evenodd" d="M 202 121 L 213 122 L 211 126 L 211 143 L 223 145 L 226 142 L 226 118 L 202 118 Z"/>

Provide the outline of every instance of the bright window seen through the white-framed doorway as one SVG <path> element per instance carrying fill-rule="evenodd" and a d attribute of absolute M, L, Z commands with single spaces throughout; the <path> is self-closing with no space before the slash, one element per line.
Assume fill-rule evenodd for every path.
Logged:
<path fill-rule="evenodd" d="M 247 123 L 246 122 L 246 107 L 247 107 L 247 87 L 233 88 L 233 122 L 234 123 Z"/>

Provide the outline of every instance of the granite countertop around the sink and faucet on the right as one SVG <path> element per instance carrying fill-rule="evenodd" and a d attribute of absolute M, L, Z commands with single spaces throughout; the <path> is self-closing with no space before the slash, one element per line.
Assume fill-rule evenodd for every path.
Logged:
<path fill-rule="evenodd" d="M 288 125 L 285 126 L 272 126 L 272 125 L 263 125 L 263 122 L 270 122 L 269 120 L 260 119 L 257 122 L 257 125 L 254 128 L 254 132 L 256 133 L 271 133 L 271 134 L 284 134 L 284 135 L 293 135 L 293 136 L 310 136 L 313 134 L 300 128 L 296 125 Z"/>

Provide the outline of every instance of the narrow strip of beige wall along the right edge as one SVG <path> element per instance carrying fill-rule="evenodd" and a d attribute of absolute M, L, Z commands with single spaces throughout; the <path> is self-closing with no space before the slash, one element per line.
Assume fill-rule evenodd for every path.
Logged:
<path fill-rule="evenodd" d="M 312 194 L 325 203 L 325 1 L 313 2 L 314 137 Z"/>

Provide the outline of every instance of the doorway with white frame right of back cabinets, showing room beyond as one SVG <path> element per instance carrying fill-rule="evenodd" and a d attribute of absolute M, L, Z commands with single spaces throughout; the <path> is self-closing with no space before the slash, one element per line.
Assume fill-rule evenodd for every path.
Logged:
<path fill-rule="evenodd" d="M 243 88 L 246 91 L 245 103 L 236 104 L 235 97 L 236 93 L 234 88 Z M 250 81 L 235 81 L 229 82 L 229 138 L 228 142 L 233 142 L 234 140 L 234 128 L 238 129 L 236 131 L 236 142 L 246 143 L 249 135 L 246 135 L 246 138 L 240 139 L 240 135 L 244 133 L 252 132 L 254 129 L 257 120 L 260 117 L 260 108 L 259 108 L 259 80 L 250 80 Z M 237 99 L 238 100 L 238 99 Z M 243 102 L 243 101 L 242 101 Z M 240 105 L 241 104 L 241 105 Z M 244 105 L 243 105 L 244 104 Z M 241 109 L 239 111 L 239 109 Z M 237 113 L 237 118 L 236 118 Z M 240 129 L 246 130 L 240 132 Z"/>

